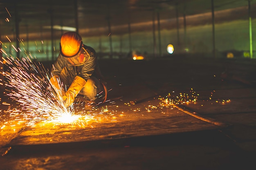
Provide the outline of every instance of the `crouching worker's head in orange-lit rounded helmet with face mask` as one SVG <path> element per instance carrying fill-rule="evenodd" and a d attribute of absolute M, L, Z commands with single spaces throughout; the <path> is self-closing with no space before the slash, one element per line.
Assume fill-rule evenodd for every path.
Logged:
<path fill-rule="evenodd" d="M 81 36 L 72 31 L 61 36 L 60 52 L 73 66 L 81 66 L 90 58 L 90 54 L 83 48 Z"/>

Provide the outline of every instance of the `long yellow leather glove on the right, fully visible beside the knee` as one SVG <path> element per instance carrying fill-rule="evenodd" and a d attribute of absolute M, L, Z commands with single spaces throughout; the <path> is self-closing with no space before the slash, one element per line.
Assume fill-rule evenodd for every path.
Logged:
<path fill-rule="evenodd" d="M 78 95 L 79 91 L 82 90 L 85 84 L 86 81 L 82 77 L 76 76 L 74 78 L 70 88 L 68 88 L 67 92 L 63 96 L 66 107 L 70 106 L 74 102 L 75 97 Z"/>

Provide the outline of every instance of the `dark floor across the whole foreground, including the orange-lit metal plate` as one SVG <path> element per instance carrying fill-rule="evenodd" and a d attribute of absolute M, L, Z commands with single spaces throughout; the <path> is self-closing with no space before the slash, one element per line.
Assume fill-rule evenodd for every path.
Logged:
<path fill-rule="evenodd" d="M 0 170 L 255 169 L 254 60 L 163 57 L 100 65 L 110 101 L 74 124 L 2 128 Z"/>

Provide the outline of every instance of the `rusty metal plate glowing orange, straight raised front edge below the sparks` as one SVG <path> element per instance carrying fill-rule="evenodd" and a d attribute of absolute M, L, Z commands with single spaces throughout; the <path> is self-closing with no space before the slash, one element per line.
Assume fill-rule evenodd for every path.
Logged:
<path fill-rule="evenodd" d="M 131 106 L 133 110 L 122 112 L 120 106 L 115 113 L 102 113 L 93 120 L 77 124 L 56 125 L 54 123 L 38 123 L 26 127 L 11 141 L 9 146 L 67 143 L 75 141 L 91 141 L 103 139 L 119 139 L 162 135 L 178 132 L 216 129 L 216 126 L 202 121 L 171 106 L 159 107 L 158 99 Z M 148 112 L 145 107 L 157 106 Z M 122 108 L 123 107 L 123 108 Z M 136 108 L 141 110 L 137 110 Z M 94 110 L 97 113 L 99 110 Z M 122 113 L 120 115 L 120 113 Z M 92 115 L 93 113 L 90 113 Z M 86 116 L 86 114 L 84 115 Z M 113 118 L 114 117 L 114 118 Z M 83 116 L 81 117 L 83 119 Z"/>

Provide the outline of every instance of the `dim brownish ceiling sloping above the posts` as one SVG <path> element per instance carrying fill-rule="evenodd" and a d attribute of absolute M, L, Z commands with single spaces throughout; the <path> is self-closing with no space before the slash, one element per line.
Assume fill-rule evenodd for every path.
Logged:
<path fill-rule="evenodd" d="M 255 8 L 256 0 L 250 4 Z M 247 6 L 247 0 L 214 0 L 215 11 Z M 20 34 L 49 31 L 51 24 L 78 26 L 82 32 L 152 22 L 157 12 L 161 20 L 175 18 L 176 9 L 179 16 L 211 12 L 211 0 L 0 0 L 0 30 L 2 36 L 12 35 L 17 19 Z"/>

